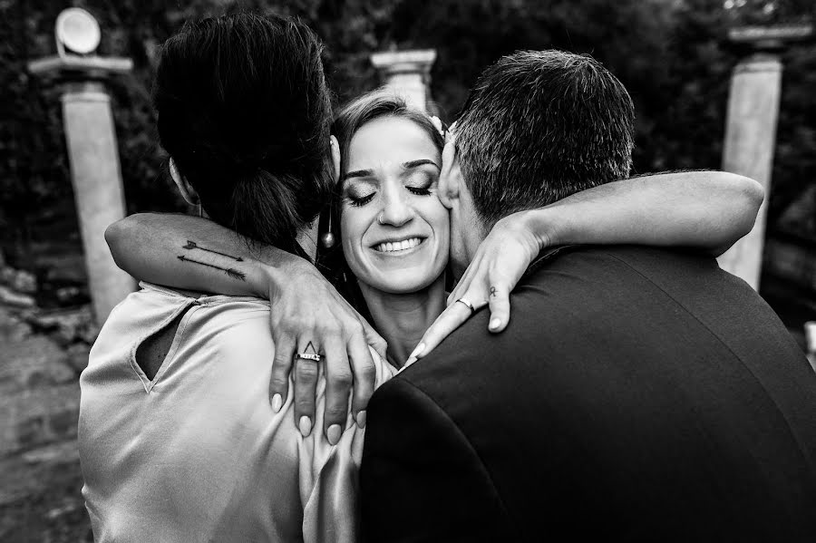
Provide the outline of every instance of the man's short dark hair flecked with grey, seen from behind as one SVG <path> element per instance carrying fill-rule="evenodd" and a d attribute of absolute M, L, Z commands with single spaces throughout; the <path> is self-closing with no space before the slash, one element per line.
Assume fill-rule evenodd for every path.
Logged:
<path fill-rule="evenodd" d="M 635 107 L 588 55 L 522 51 L 481 73 L 456 122 L 456 152 L 484 226 L 626 179 Z"/>

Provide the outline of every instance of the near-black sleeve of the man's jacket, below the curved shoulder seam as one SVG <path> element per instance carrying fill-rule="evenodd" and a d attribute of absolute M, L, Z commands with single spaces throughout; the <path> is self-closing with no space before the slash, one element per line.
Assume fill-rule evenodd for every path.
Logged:
<path fill-rule="evenodd" d="M 365 541 L 518 540 L 488 471 L 447 413 L 397 377 L 372 398 L 360 487 Z"/>

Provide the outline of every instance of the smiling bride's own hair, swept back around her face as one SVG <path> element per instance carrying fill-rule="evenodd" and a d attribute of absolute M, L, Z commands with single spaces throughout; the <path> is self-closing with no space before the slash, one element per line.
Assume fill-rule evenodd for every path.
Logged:
<path fill-rule="evenodd" d="M 434 126 L 431 117 L 425 112 L 408 105 L 405 100 L 391 91 L 378 89 L 368 92 L 355 100 L 348 102 L 335 115 L 335 123 L 332 125 L 332 133 L 337 138 L 340 145 L 340 172 L 341 175 L 348 168 L 348 150 L 355 133 L 368 122 L 383 117 L 396 117 L 413 121 L 431 139 L 436 149 L 442 153 L 445 145 L 444 137 L 439 128 Z M 340 239 L 340 214 L 342 212 L 343 182 L 337 183 L 331 213 L 331 230 L 335 239 Z M 334 247 L 323 251 L 320 254 L 320 264 L 325 275 L 332 281 L 337 290 L 345 296 L 355 309 L 366 319 L 371 320 L 371 315 L 360 288 L 357 286 L 355 276 L 343 254 L 343 244 L 335 243 Z"/>

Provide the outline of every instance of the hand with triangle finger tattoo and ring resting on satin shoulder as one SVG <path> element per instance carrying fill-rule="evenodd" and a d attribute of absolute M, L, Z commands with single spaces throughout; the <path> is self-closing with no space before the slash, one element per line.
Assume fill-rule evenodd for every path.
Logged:
<path fill-rule="evenodd" d="M 364 410 L 376 376 L 368 347 L 385 359 L 385 341 L 306 260 L 269 267 L 267 274 L 275 342 L 269 383 L 272 407 L 277 412 L 286 400 L 294 364 L 295 423 L 308 435 L 315 420 L 317 364 L 325 364 L 323 430 L 334 445 L 345 430 L 350 391 L 355 421 L 360 427 L 365 424 Z M 320 354 L 321 361 L 296 358 L 303 353 Z"/>

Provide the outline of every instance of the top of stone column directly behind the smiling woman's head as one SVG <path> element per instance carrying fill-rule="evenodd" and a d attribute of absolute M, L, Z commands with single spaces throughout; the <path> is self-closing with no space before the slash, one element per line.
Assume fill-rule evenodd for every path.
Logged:
<path fill-rule="evenodd" d="M 383 78 L 384 86 L 423 111 L 431 102 L 431 67 L 436 61 L 434 49 L 388 51 L 371 55 L 371 63 Z"/>

